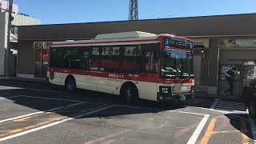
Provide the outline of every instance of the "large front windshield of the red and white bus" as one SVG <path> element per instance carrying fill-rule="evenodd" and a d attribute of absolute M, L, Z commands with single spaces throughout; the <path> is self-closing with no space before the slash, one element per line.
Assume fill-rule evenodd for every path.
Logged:
<path fill-rule="evenodd" d="M 190 78 L 193 76 L 191 51 L 165 49 L 162 58 L 162 76 Z"/>

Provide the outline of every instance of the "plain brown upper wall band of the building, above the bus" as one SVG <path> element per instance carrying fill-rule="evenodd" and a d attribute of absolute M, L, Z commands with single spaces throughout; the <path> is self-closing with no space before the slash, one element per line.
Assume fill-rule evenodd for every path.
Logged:
<path fill-rule="evenodd" d="M 181 36 L 223 36 L 256 34 L 256 14 L 168 18 L 122 22 L 92 22 L 44 26 L 21 26 L 19 40 L 90 39 L 97 34 L 146 31 L 154 34 Z"/>

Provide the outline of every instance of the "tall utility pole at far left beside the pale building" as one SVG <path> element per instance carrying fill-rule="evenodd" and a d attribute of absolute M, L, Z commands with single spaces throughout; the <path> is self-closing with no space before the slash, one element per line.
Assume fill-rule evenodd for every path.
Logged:
<path fill-rule="evenodd" d="M 13 0 L 9 0 L 9 16 L 8 16 L 8 28 L 7 28 L 7 50 L 6 50 L 6 62 L 5 62 L 5 67 L 6 67 L 6 77 L 10 77 L 10 28 L 11 28 L 11 22 L 12 22 L 12 11 L 13 11 Z"/>

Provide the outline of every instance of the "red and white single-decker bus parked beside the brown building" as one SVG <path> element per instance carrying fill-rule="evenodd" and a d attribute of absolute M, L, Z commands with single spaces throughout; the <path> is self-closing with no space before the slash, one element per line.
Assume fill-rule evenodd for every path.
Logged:
<path fill-rule="evenodd" d="M 193 93 L 193 42 L 171 34 L 131 31 L 92 40 L 52 42 L 50 83 L 143 98 L 182 101 Z"/>

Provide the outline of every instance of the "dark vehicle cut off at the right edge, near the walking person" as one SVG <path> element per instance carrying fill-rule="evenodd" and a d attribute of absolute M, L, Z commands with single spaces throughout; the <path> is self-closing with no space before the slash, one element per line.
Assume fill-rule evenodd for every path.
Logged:
<path fill-rule="evenodd" d="M 256 79 L 242 88 L 241 100 L 245 103 L 252 118 L 256 118 Z"/>

